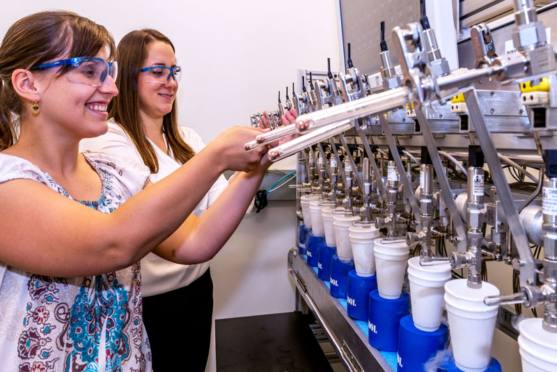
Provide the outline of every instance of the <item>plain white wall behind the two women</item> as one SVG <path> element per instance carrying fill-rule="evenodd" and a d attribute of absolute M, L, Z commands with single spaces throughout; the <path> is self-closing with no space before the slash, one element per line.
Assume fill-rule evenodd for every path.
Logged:
<path fill-rule="evenodd" d="M 208 142 L 231 125 L 249 125 L 254 111 L 276 109 L 280 89 L 298 68 L 338 66 L 335 0 L 4 2 L 0 34 L 29 13 L 72 10 L 111 31 L 116 42 L 133 29 L 158 29 L 175 45 L 185 74 L 178 92 L 180 124 Z M 296 87 L 297 90 L 299 86 Z M 293 169 L 292 162 L 283 166 Z M 294 203 L 269 203 L 249 215 L 212 263 L 215 318 L 294 310 L 286 254 L 294 245 Z M 187 335 L 185 335 L 187 336 Z M 214 353 L 207 368 L 214 371 Z"/>

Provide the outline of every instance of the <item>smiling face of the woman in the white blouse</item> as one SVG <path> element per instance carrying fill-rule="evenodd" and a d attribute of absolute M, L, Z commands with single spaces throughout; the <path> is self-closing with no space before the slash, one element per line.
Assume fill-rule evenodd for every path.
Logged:
<path fill-rule="evenodd" d="M 141 68 L 164 65 L 174 67 L 176 57 L 172 47 L 166 42 L 155 40 L 147 46 L 147 58 Z M 137 82 L 139 93 L 139 114 L 143 122 L 147 118 L 161 121 L 164 115 L 172 111 L 176 99 L 178 82 L 171 77 L 165 84 L 146 82 L 146 73 L 140 72 Z"/>

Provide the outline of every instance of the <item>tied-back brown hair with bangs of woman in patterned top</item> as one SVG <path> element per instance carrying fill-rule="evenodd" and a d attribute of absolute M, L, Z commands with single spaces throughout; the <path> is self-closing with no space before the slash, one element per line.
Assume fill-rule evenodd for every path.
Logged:
<path fill-rule="evenodd" d="M 109 48 L 112 58 L 114 39 L 104 26 L 63 10 L 28 15 L 8 29 L 0 46 L 0 150 L 15 143 L 16 126 L 24 114 L 13 88 L 13 71 L 68 56 L 94 56 L 102 47 Z M 63 66 L 56 77 L 69 69 Z"/>

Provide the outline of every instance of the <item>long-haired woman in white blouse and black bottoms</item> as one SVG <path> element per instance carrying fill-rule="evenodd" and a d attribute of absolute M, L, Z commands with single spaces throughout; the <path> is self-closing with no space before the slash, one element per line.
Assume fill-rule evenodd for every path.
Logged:
<path fill-rule="evenodd" d="M 117 61 L 122 72 L 116 79 L 120 95 L 109 107 L 109 131 L 82 141 L 82 149 L 145 164 L 151 171 L 150 179 L 157 182 L 205 146 L 194 130 L 178 126 L 175 97 L 182 71 L 174 53 L 171 40 L 152 29 L 132 31 L 120 40 Z M 294 119 L 295 111 L 283 117 L 285 124 Z M 228 181 L 221 175 L 194 214 L 201 215 L 226 187 Z M 230 208 L 228 215 L 219 218 L 244 212 Z M 187 361 L 189 371 L 203 371 L 213 308 L 209 262 L 178 265 L 149 254 L 141 261 L 141 274 L 143 320 L 153 369 L 174 371 L 179 358 Z"/>

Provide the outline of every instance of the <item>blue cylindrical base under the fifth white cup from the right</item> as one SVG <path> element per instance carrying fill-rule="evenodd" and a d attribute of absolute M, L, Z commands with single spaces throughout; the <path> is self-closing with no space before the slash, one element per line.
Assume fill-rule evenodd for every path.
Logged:
<path fill-rule="evenodd" d="M 377 289 L 377 277 L 360 277 L 356 270 L 348 272 L 348 316 L 359 320 L 368 320 L 370 309 L 370 292 Z"/>

